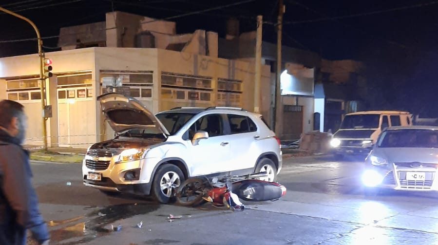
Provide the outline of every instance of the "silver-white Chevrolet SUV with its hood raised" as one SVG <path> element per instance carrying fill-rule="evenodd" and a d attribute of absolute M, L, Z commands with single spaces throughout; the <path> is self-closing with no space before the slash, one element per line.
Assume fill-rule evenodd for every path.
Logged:
<path fill-rule="evenodd" d="M 280 140 L 260 114 L 238 108 L 174 108 L 153 115 L 121 94 L 97 97 L 117 136 L 92 145 L 82 164 L 84 185 L 111 194 L 153 194 L 168 203 L 187 178 L 282 168 Z"/>

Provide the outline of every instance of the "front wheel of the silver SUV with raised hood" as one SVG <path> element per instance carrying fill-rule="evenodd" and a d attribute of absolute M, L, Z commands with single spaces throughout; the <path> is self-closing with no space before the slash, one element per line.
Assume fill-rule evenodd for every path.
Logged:
<path fill-rule="evenodd" d="M 152 191 L 158 202 L 167 204 L 173 199 L 176 190 L 184 182 L 183 172 L 172 164 L 163 164 L 156 171 Z"/>

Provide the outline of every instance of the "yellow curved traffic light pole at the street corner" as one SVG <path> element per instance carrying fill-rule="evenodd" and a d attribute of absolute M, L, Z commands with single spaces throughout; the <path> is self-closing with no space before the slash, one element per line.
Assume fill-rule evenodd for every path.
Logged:
<path fill-rule="evenodd" d="M 19 19 L 25 20 L 26 22 L 28 22 L 29 24 L 32 25 L 32 27 L 35 29 L 35 32 L 37 33 L 37 38 L 38 38 L 38 56 L 39 56 L 39 81 L 40 81 L 40 93 L 41 93 L 41 108 L 42 111 L 41 113 L 44 112 L 44 109 L 46 108 L 46 103 L 45 103 L 45 93 L 44 93 L 44 56 L 42 54 L 42 39 L 41 36 L 39 35 L 39 31 L 37 26 L 35 25 L 34 22 L 32 22 L 30 19 L 27 19 L 24 16 L 21 16 L 19 14 L 16 14 L 12 11 L 9 11 L 7 9 L 4 9 L 2 7 L 0 7 L 0 11 L 3 11 L 7 14 L 13 15 Z M 43 148 L 44 151 L 47 151 L 47 128 L 46 128 L 46 118 L 44 117 L 44 114 L 41 115 L 42 116 L 42 133 L 43 133 L 43 137 L 42 137 L 42 141 L 43 141 Z"/>

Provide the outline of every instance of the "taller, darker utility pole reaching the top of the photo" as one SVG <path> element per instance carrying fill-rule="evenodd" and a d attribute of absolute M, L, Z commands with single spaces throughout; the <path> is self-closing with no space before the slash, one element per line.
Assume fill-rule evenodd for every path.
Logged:
<path fill-rule="evenodd" d="M 283 27 L 283 14 L 285 13 L 285 5 L 283 4 L 283 0 L 278 1 L 278 19 L 277 19 L 277 79 L 275 81 L 275 104 L 274 104 L 274 122 L 272 128 L 275 133 L 279 135 L 280 133 L 280 114 L 282 113 L 282 102 L 281 102 L 281 94 L 280 94 L 280 76 L 282 69 L 282 60 L 281 60 L 281 39 L 282 39 L 282 27 Z"/>

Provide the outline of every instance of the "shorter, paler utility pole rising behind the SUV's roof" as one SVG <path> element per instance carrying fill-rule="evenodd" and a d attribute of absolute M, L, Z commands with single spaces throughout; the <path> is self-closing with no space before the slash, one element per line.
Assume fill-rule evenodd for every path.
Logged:
<path fill-rule="evenodd" d="M 262 84 L 262 26 L 263 17 L 257 16 L 257 40 L 255 45 L 255 84 L 254 112 L 260 113 L 261 84 Z"/>

